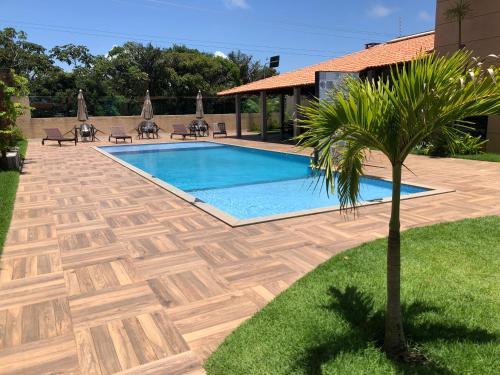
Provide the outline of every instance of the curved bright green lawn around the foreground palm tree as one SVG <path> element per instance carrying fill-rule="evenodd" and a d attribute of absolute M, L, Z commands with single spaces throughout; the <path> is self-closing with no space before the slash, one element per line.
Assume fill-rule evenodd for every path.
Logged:
<path fill-rule="evenodd" d="M 205 363 L 214 374 L 498 374 L 500 217 L 402 235 L 407 339 L 415 366 L 387 359 L 386 241 L 341 253 L 245 322 Z M 496 369 L 496 370 L 495 370 Z"/>

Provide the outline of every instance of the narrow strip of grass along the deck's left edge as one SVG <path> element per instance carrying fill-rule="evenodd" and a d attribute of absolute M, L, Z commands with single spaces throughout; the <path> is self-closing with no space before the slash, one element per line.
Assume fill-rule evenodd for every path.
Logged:
<path fill-rule="evenodd" d="M 24 156 L 26 154 L 28 142 L 20 142 L 19 147 L 21 149 L 21 155 Z M 9 231 L 18 183 L 19 172 L 0 171 L 0 255 L 2 254 L 5 237 Z"/>

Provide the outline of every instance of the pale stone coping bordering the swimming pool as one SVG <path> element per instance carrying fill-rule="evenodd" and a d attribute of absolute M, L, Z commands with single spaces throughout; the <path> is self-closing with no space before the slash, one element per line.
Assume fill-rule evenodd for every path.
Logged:
<path fill-rule="evenodd" d="M 226 146 L 228 145 L 226 143 L 221 143 L 221 142 L 216 142 L 216 141 L 207 141 L 207 140 L 199 140 L 197 142 L 217 143 L 217 144 L 226 145 Z M 172 143 L 173 144 L 173 143 L 178 143 L 178 142 L 161 142 L 161 143 Z M 151 144 L 153 144 L 153 143 L 151 143 Z M 148 145 L 148 143 L 144 143 L 144 145 Z M 127 145 L 123 144 L 123 145 L 117 145 L 117 146 L 125 147 Z M 252 147 L 252 146 L 242 146 L 242 145 L 232 145 L 232 144 L 229 144 L 229 146 L 250 148 L 250 149 L 254 149 L 254 150 L 269 151 L 269 152 L 289 154 L 289 155 L 306 156 L 306 155 L 300 155 L 300 154 L 292 153 L 292 152 L 266 150 L 263 148 Z M 225 223 L 233 228 L 243 227 L 243 226 L 253 225 L 253 224 L 260 224 L 260 223 L 268 223 L 268 222 L 278 221 L 278 220 L 291 219 L 291 218 L 296 218 L 296 217 L 316 215 L 316 214 L 326 213 L 326 212 L 335 212 L 335 211 L 341 210 L 340 205 L 335 205 L 335 206 L 313 208 L 313 209 L 308 209 L 308 210 L 287 212 L 284 214 L 268 215 L 268 216 L 261 216 L 261 217 L 252 218 L 252 219 L 241 219 L 240 220 L 240 219 L 237 219 L 234 216 L 228 214 L 227 212 L 224 212 L 224 211 L 218 209 L 215 206 L 212 206 L 208 203 L 205 203 L 205 202 L 199 200 L 195 196 L 193 196 L 189 193 L 186 193 L 185 191 L 175 187 L 174 185 L 171 185 L 168 182 L 160 180 L 159 178 L 143 171 L 140 168 L 134 167 L 133 165 L 131 165 L 131 164 L 121 160 L 120 158 L 112 155 L 111 153 L 101 149 L 101 147 L 103 147 L 103 146 L 92 146 L 92 148 L 94 150 L 101 153 L 102 155 L 110 158 L 111 160 L 115 161 L 116 163 L 126 167 L 127 169 L 129 169 L 132 172 L 138 174 L 139 176 L 145 178 L 146 180 L 148 180 L 148 181 L 154 183 L 155 185 L 169 191 L 170 193 L 174 194 L 175 196 L 192 204 L 193 206 L 199 208 L 200 210 L 206 212 L 207 214 L 215 217 L 216 219 L 222 221 L 223 223 Z M 107 146 L 104 146 L 104 147 L 107 147 Z M 116 146 L 110 145 L 110 147 L 116 147 Z M 372 175 L 364 175 L 364 176 L 368 177 L 368 178 L 377 179 L 377 180 L 381 180 L 381 181 L 387 181 L 387 182 L 392 183 L 392 181 L 390 179 L 381 178 L 381 177 L 372 176 Z M 420 193 L 413 193 L 413 194 L 401 196 L 401 201 L 455 192 L 454 189 L 450 189 L 450 188 L 428 186 L 425 184 L 418 184 L 417 185 L 415 183 L 407 183 L 404 181 L 401 181 L 401 183 L 405 184 L 405 185 L 409 185 L 409 186 L 415 186 L 415 187 L 421 187 L 424 189 L 429 189 L 428 191 L 423 191 Z M 390 197 L 382 198 L 382 199 L 378 199 L 378 200 L 374 200 L 374 201 L 366 201 L 366 202 L 362 202 L 359 205 L 357 205 L 356 208 L 385 204 L 385 203 L 389 203 L 391 201 L 392 201 L 392 198 L 390 198 Z"/>

